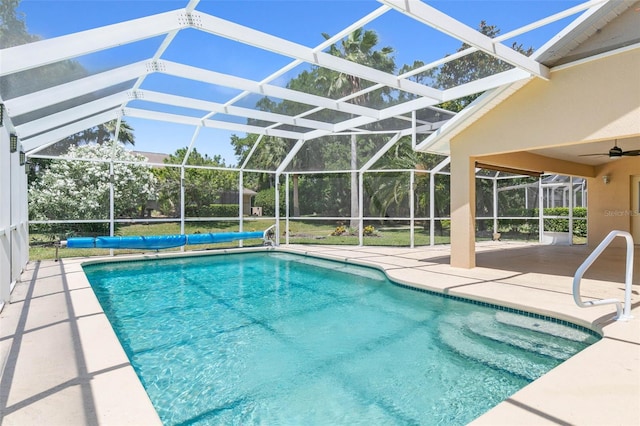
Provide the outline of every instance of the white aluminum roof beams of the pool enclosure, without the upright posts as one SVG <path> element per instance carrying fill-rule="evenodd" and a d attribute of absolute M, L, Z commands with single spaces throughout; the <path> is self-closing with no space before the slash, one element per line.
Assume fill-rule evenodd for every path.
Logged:
<path fill-rule="evenodd" d="M 21 124 L 16 128 L 16 131 L 20 139 L 25 144 L 25 149 L 28 153 L 32 153 L 32 151 L 40 149 L 44 145 L 49 145 L 63 139 L 64 137 L 84 130 L 82 129 L 83 126 L 88 128 L 123 116 L 151 120 L 165 120 L 193 125 L 195 127 L 214 127 L 238 132 L 287 137 L 296 140 L 310 140 L 336 132 L 348 131 L 349 129 L 369 124 L 377 120 L 409 114 L 417 109 L 432 107 L 443 101 L 453 100 L 462 96 L 468 96 L 474 93 L 498 88 L 513 82 L 531 78 L 532 76 L 546 79 L 549 75 L 549 70 L 546 67 L 536 62 L 534 58 L 528 58 L 514 51 L 510 47 L 505 46 L 502 42 L 511 39 L 516 35 L 524 34 L 548 23 L 555 22 L 559 19 L 566 18 L 567 16 L 571 16 L 582 11 L 586 11 L 584 12 L 584 16 L 590 16 L 590 14 L 603 7 L 603 4 L 606 3 L 597 0 L 587 1 L 583 4 L 573 6 L 565 11 L 510 31 L 502 36 L 490 39 L 423 2 L 417 0 L 380 0 L 380 2 L 383 3 L 383 5 L 378 9 L 347 26 L 329 40 L 315 47 L 303 46 L 281 37 L 276 37 L 253 28 L 239 25 L 198 11 L 197 7 L 200 2 L 198 0 L 191 0 L 184 9 L 168 11 L 144 18 L 133 19 L 74 34 L 2 49 L 0 50 L 0 55 L 2 56 L 3 66 L 0 69 L 0 76 L 33 69 L 38 66 L 57 61 L 77 58 L 82 55 L 117 47 L 123 44 L 133 43 L 139 40 L 164 36 L 160 46 L 150 55 L 148 60 L 125 65 L 78 81 L 45 89 L 37 93 L 30 93 L 18 98 L 8 99 L 5 101 L 7 113 L 10 116 L 26 114 L 35 109 L 43 108 L 44 106 L 48 106 L 53 103 L 59 103 L 83 93 L 91 93 L 101 88 L 107 88 L 118 83 L 135 80 L 133 87 L 126 92 L 128 99 L 124 98 L 124 93 L 119 93 L 91 102 L 85 107 L 63 110 L 52 116 Z M 472 47 L 463 52 L 434 61 L 417 70 L 412 70 L 411 72 L 397 76 L 325 53 L 324 50 L 331 44 L 338 42 L 342 37 L 346 36 L 356 28 L 369 24 L 392 10 L 399 11 L 418 22 L 435 28 L 436 30 L 451 37 L 457 38 L 461 42 L 467 43 Z M 273 72 L 264 80 L 256 82 L 233 75 L 225 75 L 212 70 L 199 69 L 188 64 L 179 64 L 163 60 L 163 53 L 171 45 L 176 35 L 181 30 L 188 28 L 234 40 L 254 48 L 284 55 L 292 58 L 292 62 Z M 514 69 L 447 90 L 438 90 L 410 80 L 413 75 L 419 72 L 424 72 L 478 50 L 512 64 Z M 341 100 L 334 100 L 327 97 L 296 92 L 271 84 L 272 81 L 287 71 L 305 63 L 309 65 L 327 67 L 337 72 L 357 76 L 373 82 L 374 85 L 358 94 L 351 95 Z M 242 90 L 243 92 L 242 94 L 235 96 L 233 99 L 230 99 L 228 102 L 219 104 L 146 91 L 144 89 L 141 90 L 145 78 L 149 74 L 155 72 L 226 86 Z M 348 102 L 349 99 L 355 96 L 359 96 L 367 91 L 376 90 L 385 86 L 414 94 L 417 98 L 380 111 Z M 271 96 L 278 99 L 287 99 L 315 106 L 315 108 L 298 117 L 285 117 L 278 114 L 255 111 L 234 105 L 234 103 L 249 93 L 262 94 L 264 96 Z M 201 108 L 205 113 L 202 117 L 194 118 L 179 116 L 176 114 L 160 113 L 157 111 L 142 111 L 138 108 L 129 108 L 128 104 L 136 99 L 145 99 L 154 103 L 174 106 L 191 105 L 192 107 L 195 106 L 196 109 Z M 107 112 L 105 112 L 105 107 L 109 108 Z M 305 115 L 311 114 L 322 108 L 343 111 L 351 114 L 352 118 L 336 124 L 322 123 L 317 120 L 308 120 L 303 118 Z M 281 133 L 278 129 L 273 128 L 256 128 L 255 126 L 237 125 L 235 123 L 211 119 L 211 117 L 216 113 L 232 114 L 247 119 L 253 118 L 267 120 L 277 123 L 276 125 L 297 125 L 311 130 L 306 133 L 290 132 L 296 133 L 295 135 L 292 135 L 286 132 Z M 441 124 L 442 123 L 438 123 L 438 127 Z M 275 125 L 270 127 L 275 127 Z M 436 128 L 432 126 L 430 130 L 436 130 Z"/>

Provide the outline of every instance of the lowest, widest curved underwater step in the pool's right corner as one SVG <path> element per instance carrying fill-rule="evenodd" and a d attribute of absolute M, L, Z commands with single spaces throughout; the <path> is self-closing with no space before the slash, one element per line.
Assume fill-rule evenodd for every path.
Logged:
<path fill-rule="evenodd" d="M 468 324 L 467 318 L 454 318 L 443 321 L 438 326 L 440 340 L 450 350 L 465 358 L 530 381 L 542 376 L 558 363 L 557 360 L 534 353 L 517 354 L 507 345 L 470 332 Z"/>

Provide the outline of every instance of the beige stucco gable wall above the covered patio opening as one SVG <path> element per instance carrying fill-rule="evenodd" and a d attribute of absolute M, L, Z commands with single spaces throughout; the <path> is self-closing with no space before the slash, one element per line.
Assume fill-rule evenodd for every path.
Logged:
<path fill-rule="evenodd" d="M 640 49 L 534 79 L 452 141 L 470 155 L 640 135 Z"/>

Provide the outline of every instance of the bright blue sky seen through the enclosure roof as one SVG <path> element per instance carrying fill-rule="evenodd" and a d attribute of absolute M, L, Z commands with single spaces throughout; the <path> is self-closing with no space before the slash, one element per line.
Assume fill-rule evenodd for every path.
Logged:
<path fill-rule="evenodd" d="M 30 33 L 42 38 L 52 38 L 181 9 L 187 3 L 187 0 L 22 0 L 18 11 L 23 14 Z M 485 20 L 505 33 L 581 2 L 441 0 L 428 3 L 473 28 L 477 28 L 480 21 Z M 315 47 L 324 41 L 322 33 L 335 34 L 380 6 L 381 3 L 373 0 L 202 0 L 196 10 Z M 573 19 L 575 16 L 519 36 L 505 44 L 517 41 L 525 47 L 538 48 Z M 380 47 L 393 47 L 398 68 L 403 64 L 411 64 L 414 60 L 428 63 L 442 58 L 455 52 L 461 45 L 460 41 L 443 36 L 395 11 L 384 14 L 365 26 L 365 29 L 373 29 L 378 33 Z M 162 39 L 163 37 L 157 37 L 131 43 L 77 59 L 90 73 L 97 73 L 150 58 Z M 162 58 L 255 81 L 264 79 L 292 60 L 193 29 L 180 31 Z M 302 69 L 305 67 L 294 69 L 272 84 L 284 86 Z M 161 89 L 183 96 L 187 93 L 196 94 L 196 97 L 221 103 L 238 93 L 228 88 L 203 87 L 201 83 L 178 81 L 158 74 L 147 77 L 143 88 Z M 252 107 L 257 99 L 258 96 L 252 96 L 238 105 Z M 192 114 L 202 115 L 201 112 Z M 194 128 L 190 126 L 133 117 L 126 117 L 126 120 L 135 130 L 136 150 L 140 151 L 172 153 L 177 148 L 187 146 L 194 135 Z M 229 144 L 230 136 L 231 132 L 204 129 L 198 135 L 196 148 L 210 156 L 221 155 L 228 165 L 236 164 Z"/>

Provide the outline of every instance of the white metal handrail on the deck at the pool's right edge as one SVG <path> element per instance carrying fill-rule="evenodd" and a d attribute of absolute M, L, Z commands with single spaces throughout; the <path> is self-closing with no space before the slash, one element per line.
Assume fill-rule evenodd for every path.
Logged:
<path fill-rule="evenodd" d="M 627 240 L 627 262 L 625 267 L 625 290 L 624 290 L 624 309 L 622 306 L 622 302 L 618 299 L 600 299 L 600 300 L 590 300 L 583 302 L 580 297 L 580 281 L 582 280 L 582 276 L 589 269 L 591 264 L 595 262 L 595 260 L 602 254 L 604 249 L 607 248 L 611 241 L 615 237 L 624 237 Z M 614 230 L 609 232 L 609 234 L 602 240 L 598 247 L 596 247 L 593 252 L 587 257 L 587 259 L 582 262 L 582 265 L 576 270 L 576 274 L 573 277 L 573 300 L 576 302 L 581 308 L 588 308 L 590 306 L 597 305 L 616 305 L 616 317 L 614 319 L 618 321 L 626 321 L 633 316 L 631 315 L 631 281 L 633 279 L 633 237 L 626 231 L 618 231 Z"/>

